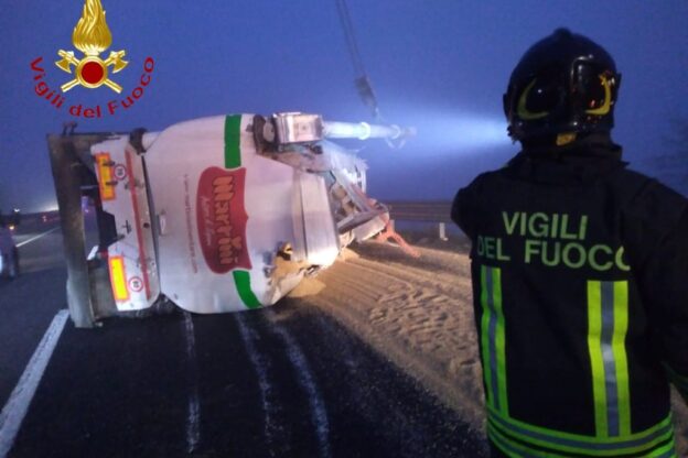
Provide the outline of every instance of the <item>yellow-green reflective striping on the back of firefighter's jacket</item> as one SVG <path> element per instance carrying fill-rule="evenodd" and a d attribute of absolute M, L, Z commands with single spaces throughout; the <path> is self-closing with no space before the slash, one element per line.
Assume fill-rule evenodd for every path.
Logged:
<path fill-rule="evenodd" d="M 502 272 L 481 266 L 481 347 L 487 399 L 487 434 L 510 457 L 588 457 L 619 455 L 676 457 L 668 416 L 645 430 L 631 430 L 631 396 L 625 338 L 628 329 L 627 282 L 588 282 L 588 350 L 594 401 L 595 435 L 535 426 L 508 412 Z"/>

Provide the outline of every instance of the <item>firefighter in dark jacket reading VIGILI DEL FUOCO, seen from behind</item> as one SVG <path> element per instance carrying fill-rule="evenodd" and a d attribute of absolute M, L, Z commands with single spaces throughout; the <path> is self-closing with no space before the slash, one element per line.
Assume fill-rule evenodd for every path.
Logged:
<path fill-rule="evenodd" d="M 613 58 L 561 29 L 514 69 L 522 144 L 459 190 L 494 456 L 675 457 L 688 401 L 688 200 L 626 168 Z"/>

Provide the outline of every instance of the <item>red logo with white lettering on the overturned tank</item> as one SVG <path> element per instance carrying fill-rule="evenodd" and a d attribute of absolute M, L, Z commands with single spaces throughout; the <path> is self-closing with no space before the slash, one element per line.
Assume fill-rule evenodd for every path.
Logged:
<path fill-rule="evenodd" d="M 203 258 L 215 273 L 251 269 L 246 248 L 244 206 L 246 168 L 203 171 L 196 194 L 196 218 Z"/>

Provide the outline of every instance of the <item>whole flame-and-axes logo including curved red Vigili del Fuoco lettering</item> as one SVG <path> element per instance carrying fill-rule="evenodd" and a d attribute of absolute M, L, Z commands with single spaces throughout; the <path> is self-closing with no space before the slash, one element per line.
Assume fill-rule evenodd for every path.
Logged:
<path fill-rule="evenodd" d="M 43 57 L 37 57 L 31 63 L 33 79 L 36 81 L 34 89 L 40 98 L 45 99 L 58 110 L 68 107 L 66 110 L 69 115 L 77 118 L 103 118 L 105 115 L 112 116 L 119 110 L 131 108 L 143 96 L 151 83 L 155 62 L 150 56 L 146 57 L 136 87 L 128 91 L 111 76 L 127 68 L 129 62 L 125 61 L 127 55 L 125 50 L 110 51 L 106 58 L 100 57 L 100 54 L 112 44 L 112 34 L 105 20 L 105 10 L 100 0 L 86 0 L 82 18 L 72 33 L 72 43 L 83 55 L 74 51 L 60 50 L 57 52 L 61 59 L 55 62 L 55 65 L 72 75 L 72 79 L 62 84 L 60 89 L 51 88 L 46 83 L 47 73 Z M 64 94 L 76 86 L 86 89 L 105 87 L 118 95 L 123 91 L 125 96 L 110 99 L 103 106 L 85 107 L 83 103 L 66 103 L 67 98 Z"/>

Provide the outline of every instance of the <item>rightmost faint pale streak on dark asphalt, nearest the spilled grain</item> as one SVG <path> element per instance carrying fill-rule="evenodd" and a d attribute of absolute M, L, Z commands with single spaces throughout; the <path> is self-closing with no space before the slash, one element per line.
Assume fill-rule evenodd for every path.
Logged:
<path fill-rule="evenodd" d="M 275 312 L 268 310 L 268 316 L 273 317 Z M 315 384 L 315 380 L 313 379 L 313 374 L 311 369 L 309 368 L 308 361 L 301 351 L 301 348 L 297 344 L 297 341 L 291 337 L 291 335 L 278 325 L 275 319 L 271 319 L 273 324 L 275 331 L 282 338 L 284 344 L 287 345 L 287 356 L 289 360 L 297 369 L 297 378 L 299 380 L 299 384 L 305 390 L 308 394 L 309 404 L 311 407 L 311 421 L 315 426 L 315 432 L 318 435 L 318 441 L 320 443 L 320 456 L 322 458 L 327 458 L 332 456 L 332 450 L 330 449 L 330 421 L 327 419 L 327 411 L 325 408 L 325 403 L 318 390 L 318 385 Z"/>

